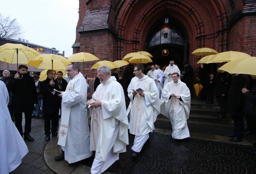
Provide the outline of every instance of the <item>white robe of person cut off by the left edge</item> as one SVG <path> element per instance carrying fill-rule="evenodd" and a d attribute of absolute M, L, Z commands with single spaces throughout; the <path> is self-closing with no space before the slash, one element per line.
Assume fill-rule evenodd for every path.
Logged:
<path fill-rule="evenodd" d="M 0 98 L 0 173 L 8 174 L 21 164 L 28 147 L 11 120 L 7 107 L 9 94 L 3 81 L 0 81 Z"/>

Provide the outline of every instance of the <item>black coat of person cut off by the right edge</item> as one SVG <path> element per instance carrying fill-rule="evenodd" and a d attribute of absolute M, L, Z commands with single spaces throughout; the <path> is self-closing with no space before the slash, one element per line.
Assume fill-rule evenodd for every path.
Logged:
<path fill-rule="evenodd" d="M 256 117 L 256 81 L 253 82 L 253 86 L 243 96 L 245 97 L 245 113 Z"/>

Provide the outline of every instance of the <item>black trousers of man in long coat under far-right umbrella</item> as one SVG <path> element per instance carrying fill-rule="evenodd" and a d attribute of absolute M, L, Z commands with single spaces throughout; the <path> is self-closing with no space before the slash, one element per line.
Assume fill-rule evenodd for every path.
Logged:
<path fill-rule="evenodd" d="M 234 129 L 233 129 L 233 134 L 235 136 L 242 138 L 243 137 L 243 129 L 245 126 L 244 120 L 243 120 L 243 115 L 233 115 L 232 118 L 234 121 Z"/>

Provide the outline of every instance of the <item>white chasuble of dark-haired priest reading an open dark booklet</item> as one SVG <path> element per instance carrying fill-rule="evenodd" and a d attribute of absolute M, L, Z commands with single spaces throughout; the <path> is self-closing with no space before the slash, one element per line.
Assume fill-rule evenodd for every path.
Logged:
<path fill-rule="evenodd" d="M 145 96 L 136 94 L 133 99 L 132 89 L 141 88 L 144 90 Z M 132 101 L 130 110 L 130 133 L 142 136 L 154 129 L 154 122 L 160 113 L 160 103 L 157 85 L 152 78 L 144 75 L 143 78 L 135 78 L 130 83 L 128 96 Z"/>

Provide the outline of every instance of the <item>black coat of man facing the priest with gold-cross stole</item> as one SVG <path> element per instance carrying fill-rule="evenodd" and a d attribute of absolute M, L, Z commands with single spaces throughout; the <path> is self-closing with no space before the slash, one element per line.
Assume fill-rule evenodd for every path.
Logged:
<path fill-rule="evenodd" d="M 50 85 L 51 79 L 46 78 L 39 85 L 41 94 L 43 95 L 43 113 L 58 113 L 60 104 L 56 93 L 52 93 L 54 86 Z"/>

